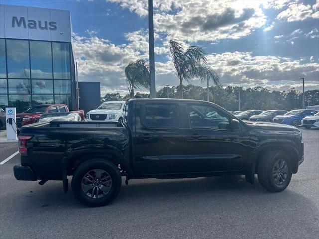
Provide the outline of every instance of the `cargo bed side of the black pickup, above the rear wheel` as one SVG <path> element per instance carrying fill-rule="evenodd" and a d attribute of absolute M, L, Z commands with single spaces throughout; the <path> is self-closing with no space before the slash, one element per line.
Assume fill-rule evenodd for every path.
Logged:
<path fill-rule="evenodd" d="M 129 148 L 129 131 L 121 122 L 43 122 L 25 125 L 19 136 L 27 141 L 22 166 L 30 166 L 44 180 L 61 180 L 64 170 L 80 158 L 116 157 L 121 163 Z"/>

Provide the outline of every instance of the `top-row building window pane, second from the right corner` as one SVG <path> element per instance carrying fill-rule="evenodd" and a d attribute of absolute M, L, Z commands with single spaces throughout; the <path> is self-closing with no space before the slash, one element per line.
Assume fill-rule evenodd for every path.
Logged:
<path fill-rule="evenodd" d="M 51 42 L 30 41 L 32 78 L 52 79 Z"/>

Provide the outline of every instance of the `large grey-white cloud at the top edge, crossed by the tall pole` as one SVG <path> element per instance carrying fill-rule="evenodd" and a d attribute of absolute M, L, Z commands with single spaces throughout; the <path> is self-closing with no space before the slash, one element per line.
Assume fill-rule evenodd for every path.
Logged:
<path fill-rule="evenodd" d="M 146 0 L 109 0 L 141 17 Z M 155 0 L 154 28 L 168 38 L 188 42 L 238 39 L 263 26 L 266 16 L 259 1 Z"/>

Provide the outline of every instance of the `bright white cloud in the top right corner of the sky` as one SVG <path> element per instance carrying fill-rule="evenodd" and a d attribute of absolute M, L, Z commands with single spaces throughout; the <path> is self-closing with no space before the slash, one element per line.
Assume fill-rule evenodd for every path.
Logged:
<path fill-rule="evenodd" d="M 308 1 L 306 1 L 307 3 Z M 316 5 L 318 1 L 314 4 Z M 305 5 L 304 3 L 296 2 L 290 4 L 288 8 L 280 12 L 277 17 L 280 20 L 287 20 L 288 22 L 302 21 L 308 18 L 319 18 L 318 8 L 313 8 L 311 5 Z"/>

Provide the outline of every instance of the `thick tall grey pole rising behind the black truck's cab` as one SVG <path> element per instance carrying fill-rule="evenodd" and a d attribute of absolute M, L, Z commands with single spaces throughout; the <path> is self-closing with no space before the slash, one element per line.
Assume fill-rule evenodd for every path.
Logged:
<path fill-rule="evenodd" d="M 155 98 L 153 0 L 149 0 L 149 61 L 150 61 L 150 97 Z"/>

